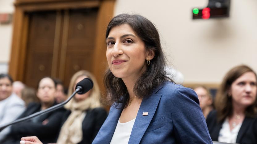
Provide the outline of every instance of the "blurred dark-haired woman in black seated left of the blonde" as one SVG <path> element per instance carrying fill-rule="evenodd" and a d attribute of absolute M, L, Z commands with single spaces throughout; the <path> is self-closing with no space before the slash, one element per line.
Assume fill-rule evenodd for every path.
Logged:
<path fill-rule="evenodd" d="M 57 104 L 54 101 L 55 92 L 56 83 L 53 79 L 50 77 L 42 78 L 37 90 L 37 97 L 39 98 L 40 103 L 30 103 L 19 118 L 26 117 Z M 55 140 L 58 130 L 61 127 L 61 117 L 64 112 L 65 109 L 61 108 L 32 118 L 29 121 L 11 126 L 11 132 L 4 141 L 4 144 L 17 144 L 21 137 L 27 135 L 36 135 L 44 143 L 52 142 Z"/>

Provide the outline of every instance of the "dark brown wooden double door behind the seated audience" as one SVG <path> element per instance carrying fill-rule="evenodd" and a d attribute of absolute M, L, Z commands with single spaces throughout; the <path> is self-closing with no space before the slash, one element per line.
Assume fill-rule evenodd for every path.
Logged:
<path fill-rule="evenodd" d="M 24 83 L 35 87 L 44 76 L 68 87 L 78 70 L 93 72 L 97 8 L 29 13 Z"/>

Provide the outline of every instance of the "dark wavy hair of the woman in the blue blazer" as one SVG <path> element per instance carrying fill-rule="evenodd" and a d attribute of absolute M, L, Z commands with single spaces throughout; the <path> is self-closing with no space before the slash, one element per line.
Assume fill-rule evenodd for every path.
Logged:
<path fill-rule="evenodd" d="M 113 27 L 123 24 L 131 26 L 137 36 L 144 42 L 145 48 L 155 52 L 150 66 L 147 66 L 147 70 L 137 79 L 133 89 L 137 97 L 144 98 L 149 96 L 154 88 L 158 87 L 165 80 L 172 81 L 172 79 L 166 76 L 166 58 L 162 51 L 158 30 L 154 24 L 138 14 L 119 14 L 109 22 L 106 38 Z M 107 69 L 105 73 L 104 86 L 107 90 L 106 104 L 111 105 L 115 103 L 115 106 L 117 106 L 118 103 L 123 103 L 125 107 L 128 105 L 128 90 L 122 79 L 115 77 L 110 69 Z"/>

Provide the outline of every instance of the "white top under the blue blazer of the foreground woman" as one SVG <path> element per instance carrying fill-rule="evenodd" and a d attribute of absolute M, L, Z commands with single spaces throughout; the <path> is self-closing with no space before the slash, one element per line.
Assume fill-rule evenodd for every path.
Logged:
<path fill-rule="evenodd" d="M 110 144 L 127 144 L 136 118 L 129 122 L 120 123 L 120 118 L 112 136 Z"/>

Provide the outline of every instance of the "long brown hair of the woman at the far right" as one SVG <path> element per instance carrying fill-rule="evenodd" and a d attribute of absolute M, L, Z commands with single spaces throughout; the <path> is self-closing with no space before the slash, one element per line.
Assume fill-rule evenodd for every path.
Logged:
<path fill-rule="evenodd" d="M 232 83 L 241 77 L 246 72 L 256 73 L 250 67 L 246 65 L 240 65 L 232 68 L 223 78 L 221 86 L 218 90 L 217 96 L 215 98 L 215 108 L 217 110 L 217 120 L 218 122 L 223 122 L 225 118 L 232 115 L 233 107 L 232 107 L 232 98 L 229 95 L 229 90 L 231 88 Z M 257 114 L 257 99 L 255 102 L 246 108 L 245 114 L 248 117 L 256 117 Z"/>

